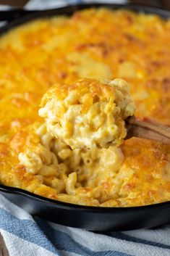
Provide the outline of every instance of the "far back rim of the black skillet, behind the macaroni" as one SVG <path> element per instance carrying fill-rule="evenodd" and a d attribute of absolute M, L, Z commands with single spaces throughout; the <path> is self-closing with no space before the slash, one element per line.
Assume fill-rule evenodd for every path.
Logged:
<path fill-rule="evenodd" d="M 16 9 L 12 11 L 4 11 L 4 12 L 8 12 L 8 14 L 11 12 L 12 17 L 14 17 L 14 20 L 0 28 L 0 35 L 2 33 L 6 33 L 8 30 L 10 30 L 13 27 L 16 27 L 17 25 L 22 25 L 22 23 L 25 23 L 30 20 L 35 20 L 43 17 L 51 17 L 53 15 L 72 15 L 74 12 L 79 11 L 81 9 L 93 8 L 93 7 L 94 8 L 107 7 L 111 9 L 129 9 L 129 10 L 140 12 L 140 13 L 155 14 L 165 19 L 167 17 L 170 17 L 170 11 L 167 11 L 165 9 L 161 9 L 159 7 L 152 7 L 150 5 L 145 5 L 145 4 L 132 4 L 132 3 L 129 3 L 129 4 L 106 3 L 105 4 L 105 3 L 91 2 L 89 4 L 70 4 L 70 5 L 59 7 L 56 9 L 45 9 L 40 11 L 29 11 L 29 10 L 27 11 L 23 9 Z M 14 15 L 14 12 L 15 12 L 15 15 Z"/>

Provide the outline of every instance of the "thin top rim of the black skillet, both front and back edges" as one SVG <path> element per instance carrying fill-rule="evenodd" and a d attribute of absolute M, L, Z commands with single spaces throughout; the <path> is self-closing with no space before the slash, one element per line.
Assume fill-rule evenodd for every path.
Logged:
<path fill-rule="evenodd" d="M 12 22 L 9 22 L 4 27 L 0 28 L 0 35 L 6 33 L 8 30 L 16 27 L 17 25 L 22 25 L 25 22 L 30 20 L 35 20 L 38 18 L 51 17 L 53 15 L 72 15 L 72 13 L 85 8 L 93 8 L 93 7 L 107 7 L 110 9 L 130 9 L 135 12 L 148 13 L 148 14 L 156 14 L 163 18 L 170 17 L 170 12 L 158 7 L 151 7 L 144 4 L 104 4 L 104 3 L 90 3 L 90 4 L 75 4 L 69 5 L 66 7 L 60 7 L 57 9 L 48 9 L 43 11 L 24 11 L 20 10 L 19 12 L 16 10 L 16 19 Z M 14 11 L 12 11 L 14 12 Z M 23 15 L 23 16 L 22 16 Z M 20 17 L 21 16 L 21 17 Z M 113 212 L 131 212 L 131 211 L 142 211 L 142 210 L 153 210 L 160 208 L 170 207 L 170 201 L 156 203 L 153 205 L 143 205 L 143 206 L 134 206 L 134 207 L 96 207 L 96 206 L 85 206 L 85 205 L 74 205 L 68 202 L 61 202 L 54 199 L 49 199 L 46 197 L 41 197 L 37 194 L 33 194 L 24 189 L 18 189 L 12 186 L 5 186 L 0 184 L 0 191 L 7 194 L 16 194 L 22 197 L 27 197 L 32 199 L 33 201 L 38 201 L 46 205 L 51 205 L 52 207 L 61 208 L 64 210 L 81 210 L 83 212 L 94 212 L 94 213 L 113 213 Z"/>

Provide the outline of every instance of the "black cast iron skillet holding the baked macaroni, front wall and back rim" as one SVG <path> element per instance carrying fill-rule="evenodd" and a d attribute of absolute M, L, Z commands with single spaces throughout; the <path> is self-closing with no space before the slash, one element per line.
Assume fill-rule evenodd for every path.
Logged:
<path fill-rule="evenodd" d="M 51 17 L 52 15 L 63 14 L 72 15 L 73 12 L 80 9 L 101 6 L 111 9 L 125 8 L 135 10 L 135 12 L 154 13 L 163 18 L 170 17 L 170 12 L 168 11 L 137 4 L 80 4 L 39 12 L 19 10 L 7 12 L 7 16 L 3 13 L 4 17 L 1 16 L 0 12 L 1 20 L 5 20 L 6 18 L 7 20 L 12 20 L 15 18 L 13 22 L 0 28 L 0 34 L 7 32 L 7 30 L 16 25 L 38 17 Z M 47 199 L 22 189 L 4 185 L 0 185 L 0 191 L 1 194 L 4 194 L 14 204 L 22 207 L 27 212 L 30 212 L 30 214 L 38 215 L 41 218 L 61 225 L 85 228 L 90 231 L 122 231 L 136 228 L 150 228 L 170 223 L 170 202 L 141 207 L 87 207 Z"/>

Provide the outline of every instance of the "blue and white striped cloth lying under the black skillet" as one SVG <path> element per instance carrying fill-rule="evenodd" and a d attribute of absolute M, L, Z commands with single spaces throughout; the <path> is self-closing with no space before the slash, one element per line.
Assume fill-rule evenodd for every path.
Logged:
<path fill-rule="evenodd" d="M 89 1 L 85 0 L 85 2 Z M 106 1 L 115 2 L 114 0 Z M 79 1 L 30 0 L 26 7 L 27 9 L 54 8 L 70 2 Z M 1 195 L 0 235 L 0 256 L 170 255 L 170 226 L 98 234 L 34 218 Z M 3 244 L 7 249 L 4 249 Z"/>

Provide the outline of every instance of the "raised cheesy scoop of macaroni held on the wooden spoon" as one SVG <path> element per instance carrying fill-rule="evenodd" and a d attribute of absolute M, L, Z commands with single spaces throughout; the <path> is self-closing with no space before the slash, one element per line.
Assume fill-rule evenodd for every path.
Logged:
<path fill-rule="evenodd" d="M 127 83 L 122 79 L 82 79 L 56 84 L 43 95 L 39 115 L 52 136 L 72 149 L 122 144 L 124 120 L 135 112 Z"/>

